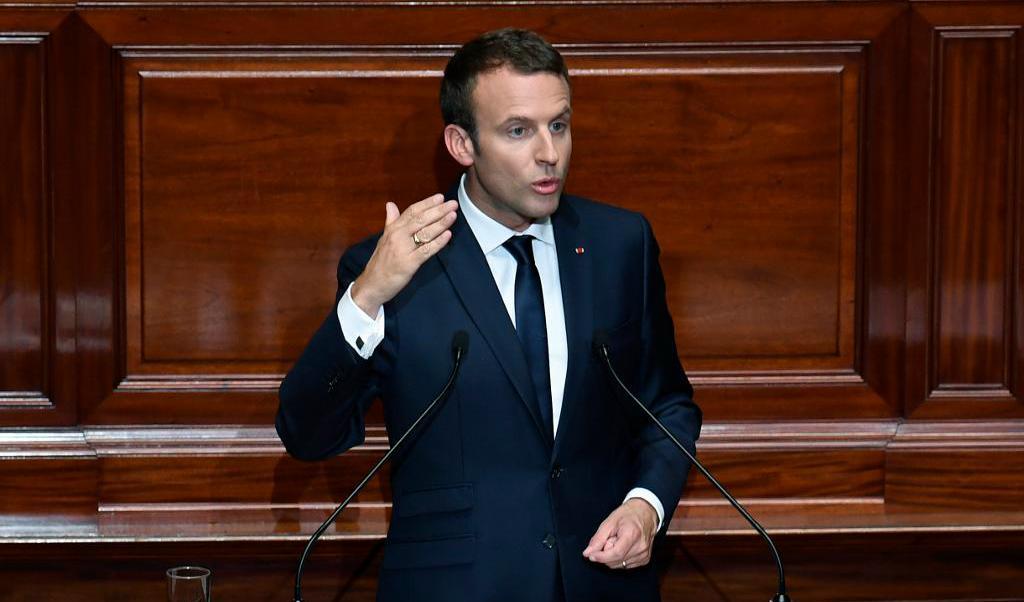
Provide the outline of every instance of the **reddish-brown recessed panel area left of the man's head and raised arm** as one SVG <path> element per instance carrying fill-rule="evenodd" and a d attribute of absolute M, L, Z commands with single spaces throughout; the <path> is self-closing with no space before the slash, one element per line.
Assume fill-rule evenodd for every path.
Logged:
<path fill-rule="evenodd" d="M 443 59 L 398 60 L 125 60 L 129 378 L 285 372 L 384 202 L 447 188 Z"/>

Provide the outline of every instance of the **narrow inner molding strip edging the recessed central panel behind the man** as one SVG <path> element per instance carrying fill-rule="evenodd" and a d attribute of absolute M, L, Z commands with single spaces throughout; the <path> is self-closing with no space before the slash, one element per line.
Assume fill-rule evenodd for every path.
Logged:
<path fill-rule="evenodd" d="M 781 362 L 781 371 L 766 370 L 771 363 L 762 360 L 758 368 L 761 371 L 754 373 L 733 373 L 726 376 L 712 374 L 703 377 L 709 382 L 716 384 L 742 383 L 750 384 L 772 384 L 779 382 L 807 384 L 826 383 L 833 387 L 837 384 L 866 387 L 864 381 L 855 370 L 855 347 L 854 336 L 856 328 L 856 304 L 854 298 L 854 273 L 856 271 L 856 240 L 857 240 L 857 214 L 856 205 L 856 163 L 854 159 L 858 156 L 858 136 L 855 129 L 856 119 L 860 115 L 860 81 L 857 77 L 861 67 L 862 54 L 856 47 L 837 48 L 810 48 L 791 50 L 782 52 L 759 52 L 756 49 L 737 51 L 735 53 L 720 50 L 720 56 L 716 60 L 725 60 L 720 70 L 715 71 L 710 68 L 709 55 L 693 51 L 644 51 L 622 53 L 618 51 L 593 51 L 586 52 L 580 50 L 569 50 L 567 55 L 573 66 L 574 77 L 581 78 L 603 78 L 603 77 L 680 77 L 690 74 L 737 74 L 741 76 L 750 70 L 760 70 L 762 73 L 798 73 L 798 74 L 826 74 L 839 77 L 837 81 L 844 97 L 843 107 L 838 107 L 840 113 L 848 114 L 851 117 L 843 122 L 845 129 L 843 136 L 844 156 L 846 160 L 841 163 L 845 179 L 853 179 L 854 184 L 844 186 L 844 195 L 841 202 L 843 209 L 840 212 L 841 230 L 837 233 L 837 239 L 842 243 L 843 251 L 840 254 L 841 272 L 839 277 L 842 283 L 840 288 L 841 298 L 848 301 L 843 302 L 837 299 L 837 305 L 843 306 L 840 313 L 841 322 L 838 326 L 840 331 L 842 348 L 838 349 L 840 361 L 837 367 L 845 364 L 845 370 L 839 372 L 818 371 L 817 374 L 808 376 L 807 374 L 793 375 L 792 370 L 786 370 L 792 365 L 786 364 L 785 358 L 776 359 Z M 722 58 L 727 56 L 728 58 Z M 846 57 L 846 58 L 842 58 Z M 424 72 L 422 69 L 412 69 L 403 71 L 395 69 L 395 63 L 399 60 L 422 61 L 426 58 L 433 63 L 434 71 Z M 837 59 L 838 62 L 837 62 Z M 753 61 L 753 62 L 752 62 Z M 138 396 L 145 395 L 146 392 L 159 393 L 163 395 L 176 393 L 172 391 L 224 391 L 225 393 L 234 391 L 247 393 L 247 398 L 252 400 L 258 398 L 260 391 L 272 391 L 276 387 L 279 374 L 266 373 L 265 363 L 256 362 L 252 364 L 253 372 L 246 370 L 246 362 L 237 361 L 214 361 L 211 367 L 217 367 L 213 372 L 196 372 L 196 368 L 202 364 L 191 362 L 167 362 L 167 361 L 146 361 L 141 355 L 142 349 L 142 287 L 144 276 L 142 274 L 142 183 L 141 183 L 141 155 L 145 144 L 141 135 L 141 115 L 144 112 L 141 99 L 141 91 L 145 78 L 175 78 L 187 80 L 188 78 L 261 78 L 261 77 L 434 77 L 439 75 L 439 67 L 443 63 L 442 57 L 423 57 L 416 54 L 409 56 L 388 56 L 387 58 L 368 58 L 364 56 L 351 56 L 339 53 L 329 57 L 306 57 L 296 53 L 287 61 L 281 61 L 278 57 L 259 57 L 258 55 L 246 56 L 232 52 L 226 60 L 217 56 L 214 52 L 211 55 L 194 54 L 191 56 L 168 56 L 163 53 L 153 54 L 150 52 L 129 52 L 123 57 L 123 69 L 125 74 L 124 88 L 124 157 L 125 157 L 125 326 L 126 326 L 126 378 L 118 388 L 119 395 Z M 686 67 L 690 63 L 691 67 Z M 729 66 L 731 63 L 731 66 Z M 339 66 L 341 69 L 339 70 Z M 390 67 L 390 69 L 387 69 Z M 332 71 L 335 70 L 335 71 Z M 795 70 L 795 71 L 794 71 Z M 847 76 L 847 74 L 850 74 Z M 850 107 L 853 106 L 853 109 Z M 853 168 L 853 169 L 851 169 Z M 586 177 L 586 174 L 584 175 Z M 638 209 L 644 209 L 639 207 Z M 337 250 L 340 252 L 340 250 Z M 797 361 L 800 361 L 799 359 Z M 806 359 L 804 361 L 807 361 Z M 834 360 L 835 361 L 835 360 Z M 827 365 L 827 364 L 826 364 Z M 242 367 L 242 370 L 238 370 Z M 225 371 L 226 368 L 226 371 Z M 282 367 L 276 367 L 282 368 Z M 233 369 L 233 370 L 232 370 Z M 261 372 L 261 369 L 263 372 Z M 233 374 L 232 374 L 233 372 Z M 218 374 L 219 373 L 219 374 Z M 700 376 L 696 377 L 700 382 Z M 212 393 L 219 397 L 220 394 Z M 206 395 L 204 395 L 206 396 Z M 884 403 L 880 403 L 884 405 Z M 145 405 L 141 402 L 139 406 Z"/>

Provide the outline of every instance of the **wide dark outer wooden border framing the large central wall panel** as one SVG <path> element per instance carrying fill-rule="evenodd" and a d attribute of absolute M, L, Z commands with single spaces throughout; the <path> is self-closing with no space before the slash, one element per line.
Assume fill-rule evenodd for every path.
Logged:
<path fill-rule="evenodd" d="M 614 12 L 615 28 L 600 25 L 612 22 L 607 15 L 602 16 L 610 14 L 609 10 Z M 119 55 L 147 52 L 167 56 L 182 53 L 292 56 L 339 52 L 364 56 L 444 55 L 478 31 L 507 25 L 536 29 L 566 53 L 600 50 L 606 56 L 609 53 L 628 55 L 636 50 L 657 53 L 663 48 L 695 52 L 761 49 L 777 50 L 780 54 L 802 47 L 812 51 L 862 48 L 865 59 L 862 71 L 865 85 L 861 90 L 864 131 L 858 150 L 857 173 L 862 198 L 858 223 L 862 229 L 861 240 L 857 242 L 857 257 L 861 262 L 858 291 L 863 297 L 856 307 L 860 325 L 856 353 L 861 368 L 852 374 L 834 371 L 782 375 L 698 374 L 694 380 L 698 401 L 711 413 L 711 419 L 889 418 L 899 412 L 902 371 L 894 360 L 902 357 L 904 332 L 904 264 L 899 260 L 903 253 L 902 199 L 899 195 L 902 182 L 890 166 L 899 161 L 903 144 L 900 136 L 895 135 L 902 127 L 904 110 L 900 100 L 905 98 L 899 79 L 905 66 L 898 59 L 906 45 L 905 9 L 901 5 L 637 5 L 628 10 L 600 5 L 552 5 L 517 10 L 519 16 L 513 24 L 509 20 L 508 7 L 497 5 L 458 9 L 452 6 L 403 7 L 397 11 L 387 6 L 368 6 L 355 11 L 338 6 L 326 6 L 316 11 L 275 6 L 254 7 L 245 14 L 204 6 L 188 10 L 164 8 L 159 15 L 130 6 L 114 9 L 97 5 L 79 12 L 95 40 L 90 42 L 97 46 L 97 56 L 100 50 Z M 468 19 L 473 24 L 472 31 L 451 27 L 456 12 L 457 20 Z M 238 23 L 238 18 L 245 23 Z M 382 31 L 373 26 L 382 19 L 389 24 L 386 31 L 390 35 L 385 36 L 386 39 L 366 38 L 365 34 L 372 29 Z M 222 20 L 236 25 L 215 27 Z M 193 27 L 200 23 L 203 27 Z M 565 27 L 570 23 L 575 26 Z M 771 24 L 768 28 L 765 27 L 767 23 Z M 582 27 L 583 24 L 590 25 Z M 643 42 L 638 45 L 640 40 Z M 120 59 L 115 59 L 113 64 L 119 66 Z M 113 87 L 119 88 L 119 78 L 113 74 L 110 77 L 115 82 Z M 99 81 L 101 83 L 102 78 Z M 104 93 L 102 86 L 92 91 L 97 99 Z M 120 114 L 120 99 L 110 101 L 109 105 Z M 113 115 L 102 112 L 100 118 L 106 117 Z M 118 128 L 111 131 L 117 134 L 117 139 L 123 139 Z M 116 162 L 118 164 L 123 165 L 121 161 Z M 120 172 L 121 168 L 115 169 L 116 181 L 123 181 Z M 97 189 L 103 187 L 102 181 L 96 184 Z M 118 198 L 123 197 L 119 195 Z M 115 217 L 121 214 L 121 207 L 124 206 L 119 201 L 113 212 Z M 89 211 L 95 212 L 96 208 Z M 106 221 L 108 215 L 112 214 L 93 213 L 92 219 L 100 224 L 96 235 L 101 238 L 103 229 L 111 227 L 117 241 L 123 226 Z M 120 254 L 117 248 L 123 249 L 123 245 L 119 243 L 115 247 L 116 255 Z M 123 266 L 123 261 L 122 257 L 117 264 Z M 123 334 L 119 334 L 123 329 L 116 326 L 124 324 L 125 308 L 119 308 L 122 305 L 119 299 L 124 298 L 120 284 L 124 276 L 119 273 L 124 272 L 117 270 L 109 275 L 102 272 L 100 269 L 90 273 L 87 280 L 93 287 L 113 286 L 109 294 L 96 298 L 113 310 L 113 321 L 102 326 L 93 320 L 109 330 L 106 335 L 97 332 L 99 338 L 90 339 L 97 343 L 92 347 L 96 352 L 89 356 L 90 370 L 81 379 L 84 391 L 81 407 L 87 423 L 241 421 L 265 424 L 270 420 L 275 405 L 273 384 L 276 377 L 264 379 L 245 375 L 233 378 L 237 375 L 228 375 L 225 379 L 221 375 L 213 382 L 188 382 L 160 380 L 158 376 L 155 382 L 145 379 L 125 381 L 125 345 Z M 103 285 L 104 278 L 110 284 Z M 102 304 L 91 304 L 89 309 L 99 312 Z M 113 394 L 119 383 L 119 392 Z M 234 392 L 226 392 L 224 387 Z M 148 400 L 142 402 L 143 397 Z M 224 404 L 226 398 L 232 400 Z M 243 407 L 245 412 L 240 414 L 230 407 Z M 373 416 L 371 420 L 375 420 Z"/>

